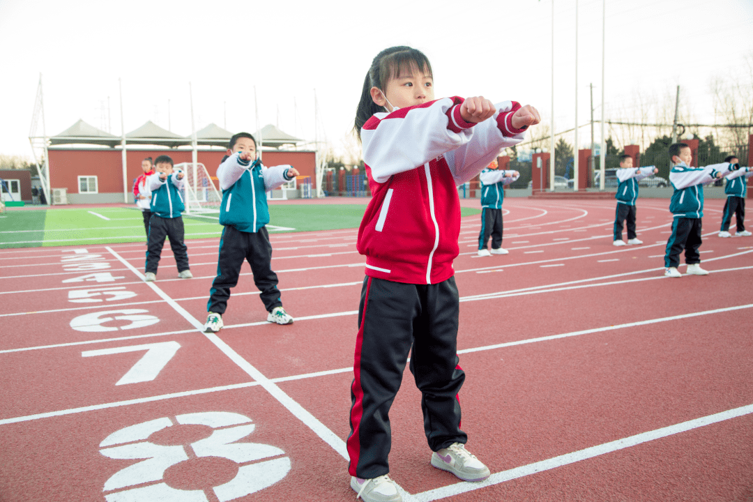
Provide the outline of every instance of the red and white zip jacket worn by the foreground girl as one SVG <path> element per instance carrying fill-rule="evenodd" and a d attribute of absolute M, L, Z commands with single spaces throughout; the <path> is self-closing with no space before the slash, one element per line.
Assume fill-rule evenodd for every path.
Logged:
<path fill-rule="evenodd" d="M 495 105 L 493 117 L 468 123 L 463 99 L 374 114 L 361 129 L 372 199 L 358 230 L 366 275 L 437 284 L 454 274 L 459 254 L 457 185 L 470 181 L 502 148 L 523 141 L 514 129 L 517 102 Z"/>

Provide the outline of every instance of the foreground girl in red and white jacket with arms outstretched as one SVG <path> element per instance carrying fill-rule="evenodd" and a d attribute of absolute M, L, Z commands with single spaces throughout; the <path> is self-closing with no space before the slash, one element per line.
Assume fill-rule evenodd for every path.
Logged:
<path fill-rule="evenodd" d="M 366 256 L 361 289 L 351 433 L 350 486 L 367 502 L 401 499 L 389 478 L 389 409 L 410 352 L 431 465 L 466 481 L 489 469 L 465 449 L 460 430 L 459 254 L 456 186 L 502 148 L 523 141 L 538 111 L 481 96 L 434 100 L 431 65 L 419 50 L 391 47 L 373 59 L 355 117 L 373 194 L 358 230 Z"/>

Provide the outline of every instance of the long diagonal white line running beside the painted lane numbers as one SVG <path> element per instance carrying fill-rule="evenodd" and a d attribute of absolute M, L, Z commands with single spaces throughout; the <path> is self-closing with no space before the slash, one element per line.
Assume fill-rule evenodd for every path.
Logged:
<path fill-rule="evenodd" d="M 131 272 L 136 274 L 137 277 L 144 277 L 142 273 L 139 272 L 139 270 L 131 266 L 130 263 L 127 262 L 127 260 L 125 260 L 123 257 L 120 257 L 120 255 L 113 251 L 112 248 L 106 247 L 106 249 L 110 251 L 110 253 L 114 257 L 120 260 L 123 265 L 131 269 Z M 204 325 L 196 318 L 194 318 L 193 315 L 188 313 L 183 307 L 179 306 L 178 303 L 175 303 L 175 300 L 172 300 L 171 297 L 169 297 L 164 291 L 157 287 L 157 284 L 154 284 L 154 282 L 148 282 L 146 284 L 148 284 L 148 286 L 152 288 L 155 293 L 166 300 L 166 302 L 169 303 L 169 305 L 172 306 L 173 309 L 175 309 L 175 312 L 178 312 L 178 314 L 180 314 L 186 321 L 191 323 L 198 331 L 203 331 Z M 321 438 L 325 443 L 331 446 L 331 448 L 334 449 L 335 452 L 342 455 L 342 457 L 346 460 L 349 458 L 345 441 L 341 440 L 340 437 L 337 436 L 337 434 L 334 434 L 334 432 L 330 431 L 329 428 L 325 426 L 325 424 L 322 424 L 322 422 L 319 421 L 318 418 L 312 415 L 308 410 L 304 409 L 303 406 L 300 406 L 300 404 L 298 404 L 295 400 L 293 400 L 293 398 L 288 396 L 288 394 L 285 394 L 285 392 L 282 391 L 279 386 L 273 383 L 270 379 L 267 379 L 266 376 L 264 376 L 259 370 L 253 367 L 252 364 L 241 357 L 240 354 L 230 348 L 230 345 L 227 345 L 227 343 L 223 342 L 215 333 L 203 333 L 203 335 L 206 336 L 206 338 L 209 339 L 210 342 L 214 343 L 215 346 L 219 348 L 225 355 L 227 355 L 227 357 L 230 358 L 230 361 L 233 361 L 239 368 L 245 371 L 248 376 L 251 376 L 251 378 L 256 382 L 259 382 L 259 385 L 261 385 L 264 390 L 272 394 L 272 396 L 276 400 L 278 400 L 279 403 L 282 404 L 282 406 L 285 406 L 285 408 L 288 409 L 288 411 L 291 412 L 292 415 L 302 421 L 303 424 L 306 424 L 306 426 L 309 427 L 314 432 L 314 434 L 319 436 L 319 438 Z"/>

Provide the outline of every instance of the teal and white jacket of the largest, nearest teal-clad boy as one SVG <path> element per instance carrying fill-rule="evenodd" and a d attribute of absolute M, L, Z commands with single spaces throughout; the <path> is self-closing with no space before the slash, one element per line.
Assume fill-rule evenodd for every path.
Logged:
<path fill-rule="evenodd" d="M 230 155 L 217 168 L 222 189 L 220 224 L 241 232 L 258 232 L 270 222 L 267 191 L 291 181 L 288 169 L 292 166 L 267 168 L 259 160 L 240 160 L 238 154 Z"/>

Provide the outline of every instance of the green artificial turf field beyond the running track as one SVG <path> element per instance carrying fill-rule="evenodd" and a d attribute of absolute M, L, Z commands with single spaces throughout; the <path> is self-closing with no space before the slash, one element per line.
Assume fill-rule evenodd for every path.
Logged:
<path fill-rule="evenodd" d="M 358 228 L 365 204 L 270 205 L 270 233 Z M 462 216 L 480 213 L 462 208 Z M 92 214 L 96 213 L 96 214 Z M 99 218 L 101 214 L 105 218 Z M 185 239 L 222 233 L 217 213 L 184 214 Z M 0 248 L 145 242 L 141 211 L 135 208 L 51 208 L 0 214 Z"/>

